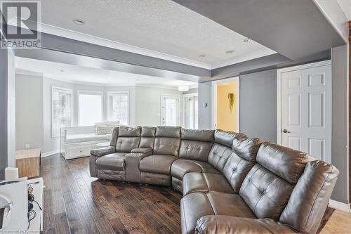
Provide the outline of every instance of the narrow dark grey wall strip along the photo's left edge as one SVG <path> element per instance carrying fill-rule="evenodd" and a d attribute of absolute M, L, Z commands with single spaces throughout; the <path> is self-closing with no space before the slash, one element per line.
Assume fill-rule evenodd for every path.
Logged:
<path fill-rule="evenodd" d="M 1 35 L 0 35 L 1 37 Z M 3 38 L 1 37 L 1 40 Z M 7 50 L 0 49 L 0 180 L 7 167 Z"/>

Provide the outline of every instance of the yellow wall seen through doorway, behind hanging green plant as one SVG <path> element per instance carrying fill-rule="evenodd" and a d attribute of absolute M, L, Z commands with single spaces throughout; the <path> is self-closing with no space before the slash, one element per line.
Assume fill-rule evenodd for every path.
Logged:
<path fill-rule="evenodd" d="M 237 82 L 216 84 L 217 90 L 217 129 L 237 131 Z M 232 112 L 230 111 L 228 93 L 234 93 L 235 101 Z"/>

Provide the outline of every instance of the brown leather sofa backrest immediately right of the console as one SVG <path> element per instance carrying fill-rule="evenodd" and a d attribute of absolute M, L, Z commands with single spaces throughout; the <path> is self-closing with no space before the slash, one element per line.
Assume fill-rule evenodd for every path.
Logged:
<path fill-rule="evenodd" d="M 180 148 L 180 126 L 157 126 L 154 140 L 154 155 L 178 157 Z"/>

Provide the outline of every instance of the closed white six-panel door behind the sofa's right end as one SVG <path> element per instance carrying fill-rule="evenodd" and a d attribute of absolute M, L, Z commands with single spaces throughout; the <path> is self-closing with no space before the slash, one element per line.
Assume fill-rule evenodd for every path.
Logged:
<path fill-rule="evenodd" d="M 282 70 L 278 78 L 282 92 L 282 145 L 330 162 L 331 65 Z"/>

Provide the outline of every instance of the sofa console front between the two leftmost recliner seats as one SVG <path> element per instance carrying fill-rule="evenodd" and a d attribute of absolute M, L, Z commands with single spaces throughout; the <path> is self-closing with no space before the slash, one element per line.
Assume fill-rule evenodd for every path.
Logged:
<path fill-rule="evenodd" d="M 140 161 L 144 157 L 152 155 L 152 150 L 141 153 L 141 152 L 131 152 L 126 154 L 124 162 L 126 162 L 126 181 L 140 183 L 140 174 L 139 169 Z"/>

